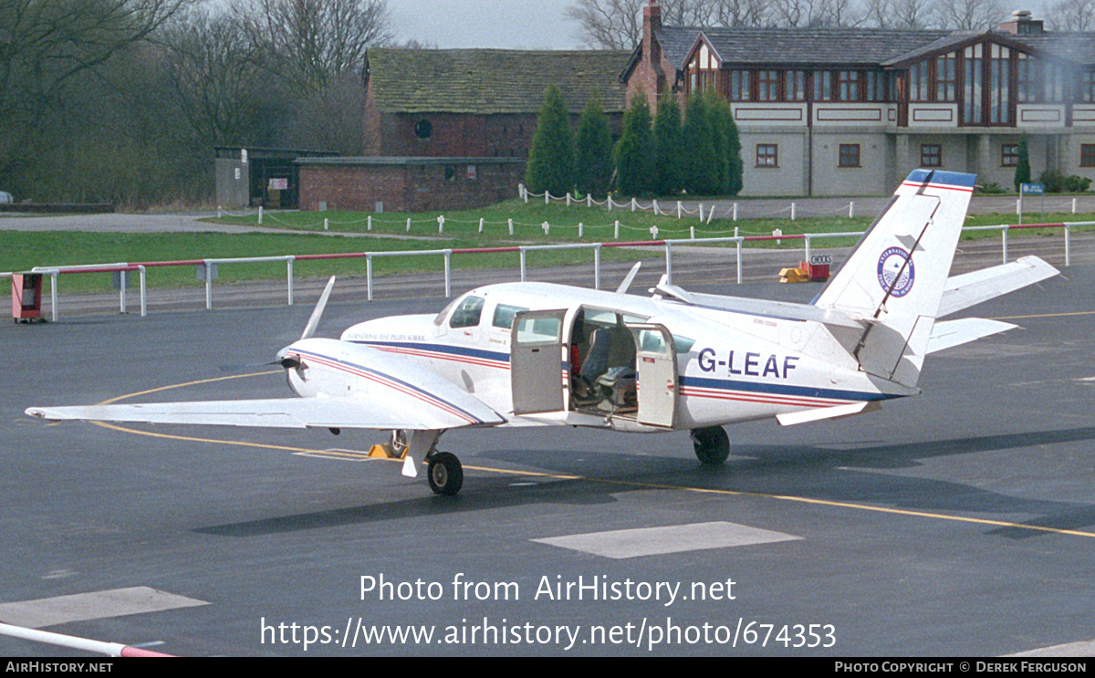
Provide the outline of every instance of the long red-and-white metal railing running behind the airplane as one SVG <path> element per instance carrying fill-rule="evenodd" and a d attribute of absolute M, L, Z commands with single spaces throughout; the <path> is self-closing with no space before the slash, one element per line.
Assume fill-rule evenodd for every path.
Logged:
<path fill-rule="evenodd" d="M 1024 225 L 999 225 L 999 226 L 972 226 L 966 227 L 964 231 L 994 231 L 999 230 L 1001 232 L 1002 240 L 1002 261 L 1007 262 L 1007 233 L 1012 230 L 1019 229 L 1063 229 L 1064 230 L 1064 265 L 1070 266 L 1072 264 L 1072 249 L 1071 249 L 1071 232 L 1074 227 L 1090 227 L 1095 226 L 1095 221 L 1072 221 L 1072 222 L 1061 222 L 1061 223 L 1024 223 Z M 373 296 L 373 271 L 372 261 L 377 257 L 401 257 L 401 256 L 441 256 L 445 262 L 445 296 L 450 297 L 452 295 L 452 256 L 458 255 L 470 255 L 470 254 L 493 254 L 493 253 L 504 253 L 504 252 L 516 252 L 520 256 L 520 279 L 525 281 L 527 279 L 527 267 L 528 267 L 528 254 L 530 252 L 539 251 L 552 251 L 552 250 L 592 250 L 593 251 L 593 287 L 600 289 L 601 285 L 601 250 L 604 248 L 661 248 L 665 251 L 666 261 L 666 280 L 672 283 L 673 273 L 673 248 L 684 246 L 684 245 L 706 245 L 706 244 L 730 244 L 735 245 L 736 253 L 736 268 L 737 268 L 737 283 L 742 281 L 742 246 L 747 242 L 763 242 L 763 241 L 783 241 L 783 240 L 802 240 L 804 242 L 804 251 L 806 261 L 810 260 L 811 249 L 814 248 L 814 241 L 818 240 L 829 240 L 829 239 L 840 239 L 840 238 L 858 238 L 863 235 L 864 231 L 852 231 L 852 232 L 840 232 L 840 233 L 789 233 L 789 234 L 773 234 L 773 235 L 735 235 L 735 237 L 724 237 L 724 238 L 688 238 L 688 239 L 670 239 L 670 240 L 639 240 L 630 242 L 592 242 L 592 243 L 561 243 L 561 244 L 543 244 L 543 245 L 511 245 L 511 246 L 500 246 L 500 248 L 471 248 L 471 249 L 443 249 L 443 250 L 405 250 L 397 252 L 348 252 L 348 253 L 335 253 L 335 254 L 300 254 L 300 255 L 281 255 L 281 256 L 245 256 L 245 257 L 227 257 L 227 258 L 201 258 L 201 260 L 185 260 L 185 261 L 168 261 L 168 262 L 142 262 L 142 263 L 114 263 L 114 264 L 91 264 L 91 265 L 80 265 L 80 266 L 36 266 L 31 269 L 32 273 L 41 273 L 43 275 L 48 275 L 50 279 L 50 302 L 51 302 L 51 315 L 53 320 L 56 322 L 58 317 L 58 276 L 67 274 L 80 274 L 80 273 L 112 273 L 118 272 L 120 275 L 120 290 L 118 307 L 122 313 L 126 312 L 126 283 L 127 275 L 131 272 L 137 272 L 140 277 L 140 314 L 146 315 L 148 312 L 147 303 L 147 272 L 149 268 L 155 267 L 166 267 L 166 266 L 194 266 L 200 265 L 205 267 L 205 300 L 206 309 L 212 309 L 212 269 L 215 266 L 221 264 L 247 264 L 247 263 L 270 263 L 270 262 L 285 262 L 286 264 L 286 291 L 287 291 L 287 303 L 292 306 L 293 303 L 293 263 L 298 261 L 319 261 L 319 260 L 335 260 L 335 258 L 365 258 L 366 263 L 366 290 L 367 298 L 372 301 Z M 0 273 L 0 277 L 10 277 L 11 273 Z"/>

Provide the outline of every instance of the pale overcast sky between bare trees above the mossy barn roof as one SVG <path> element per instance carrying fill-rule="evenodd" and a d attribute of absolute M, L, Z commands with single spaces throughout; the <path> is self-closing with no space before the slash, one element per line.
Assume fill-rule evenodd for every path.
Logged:
<path fill-rule="evenodd" d="M 581 49 L 573 0 L 388 0 L 396 41 L 442 49 Z"/>

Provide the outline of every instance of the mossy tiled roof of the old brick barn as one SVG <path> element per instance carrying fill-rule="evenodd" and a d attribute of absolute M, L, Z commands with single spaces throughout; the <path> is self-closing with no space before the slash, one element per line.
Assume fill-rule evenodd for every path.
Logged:
<path fill-rule="evenodd" d="M 370 49 L 368 78 L 384 113 L 538 113 L 552 83 L 572 113 L 590 96 L 625 107 L 619 73 L 631 53 L 607 50 Z"/>

